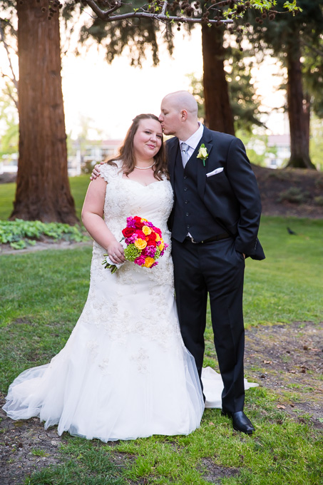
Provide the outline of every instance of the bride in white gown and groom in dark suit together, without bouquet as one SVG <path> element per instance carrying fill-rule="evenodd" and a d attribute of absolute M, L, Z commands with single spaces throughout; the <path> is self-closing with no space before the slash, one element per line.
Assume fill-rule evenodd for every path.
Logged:
<path fill-rule="evenodd" d="M 169 176 L 162 130 L 175 136 L 166 142 Z M 244 146 L 200 125 L 190 93 L 165 96 L 159 121 L 136 117 L 120 155 L 101 165 L 86 195 L 83 221 L 95 242 L 82 315 L 50 364 L 27 369 L 11 384 L 9 416 L 39 416 L 46 427 L 58 424 L 59 434 L 103 441 L 192 432 L 204 410 L 210 295 L 222 413 L 237 431 L 252 434 L 243 412 L 242 287 L 245 257 L 265 257 L 257 240 L 260 210 Z M 173 262 L 166 251 L 152 269 L 128 263 L 112 275 L 103 268 L 106 251 L 123 262 L 118 241 L 129 215 L 153 221 L 167 243 L 169 224 Z"/>

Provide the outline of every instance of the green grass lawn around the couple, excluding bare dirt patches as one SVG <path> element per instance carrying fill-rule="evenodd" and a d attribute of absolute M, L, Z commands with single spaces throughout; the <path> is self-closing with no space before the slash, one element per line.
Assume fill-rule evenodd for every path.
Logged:
<path fill-rule="evenodd" d="M 88 176 L 71 185 L 79 213 Z M 0 218 L 9 215 L 13 190 L 13 184 L 0 185 Z M 297 235 L 289 235 L 287 225 Z M 246 326 L 322 322 L 323 220 L 263 218 L 260 240 L 267 259 L 246 262 Z M 48 362 L 63 347 L 86 301 L 90 262 L 89 247 L 0 256 L 2 393 L 19 372 Z M 211 354 L 210 321 L 206 335 Z M 63 434 L 61 463 L 34 472 L 24 485 L 323 483 L 322 430 L 277 409 L 275 390 L 265 384 L 247 392 L 246 409 L 257 427 L 252 436 L 232 432 L 219 409 L 206 410 L 200 429 L 189 436 L 112 446 Z M 226 473 L 210 482 L 215 470 Z"/>

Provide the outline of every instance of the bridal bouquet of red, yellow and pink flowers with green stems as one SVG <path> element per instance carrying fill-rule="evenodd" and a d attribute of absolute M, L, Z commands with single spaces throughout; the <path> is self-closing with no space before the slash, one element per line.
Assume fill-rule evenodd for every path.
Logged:
<path fill-rule="evenodd" d="M 156 228 L 149 220 L 139 218 L 135 215 L 134 218 L 127 218 L 127 225 L 122 230 L 123 238 L 120 242 L 125 248 L 125 260 L 132 261 L 135 265 L 144 267 L 154 267 L 158 265 L 158 258 L 163 256 L 168 244 L 165 244 L 162 238 L 161 230 Z M 108 255 L 103 260 L 105 268 L 111 270 L 111 273 L 116 272 L 118 267 L 111 262 Z"/>

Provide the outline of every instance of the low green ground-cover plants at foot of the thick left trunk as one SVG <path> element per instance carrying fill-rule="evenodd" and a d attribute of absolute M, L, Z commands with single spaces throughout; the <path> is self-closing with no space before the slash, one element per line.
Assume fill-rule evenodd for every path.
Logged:
<path fill-rule="evenodd" d="M 0 244 L 9 243 L 14 249 L 23 249 L 28 244 L 34 245 L 42 236 L 76 242 L 87 239 L 77 225 L 41 223 L 40 220 L 0 220 Z"/>

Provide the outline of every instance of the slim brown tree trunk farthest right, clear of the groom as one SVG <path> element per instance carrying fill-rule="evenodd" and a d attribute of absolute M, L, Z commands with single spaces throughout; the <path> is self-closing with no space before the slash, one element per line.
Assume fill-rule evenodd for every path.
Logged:
<path fill-rule="evenodd" d="M 290 159 L 287 167 L 314 168 L 309 158 L 309 106 L 304 99 L 299 39 L 287 46 L 287 106 L 290 131 Z"/>

